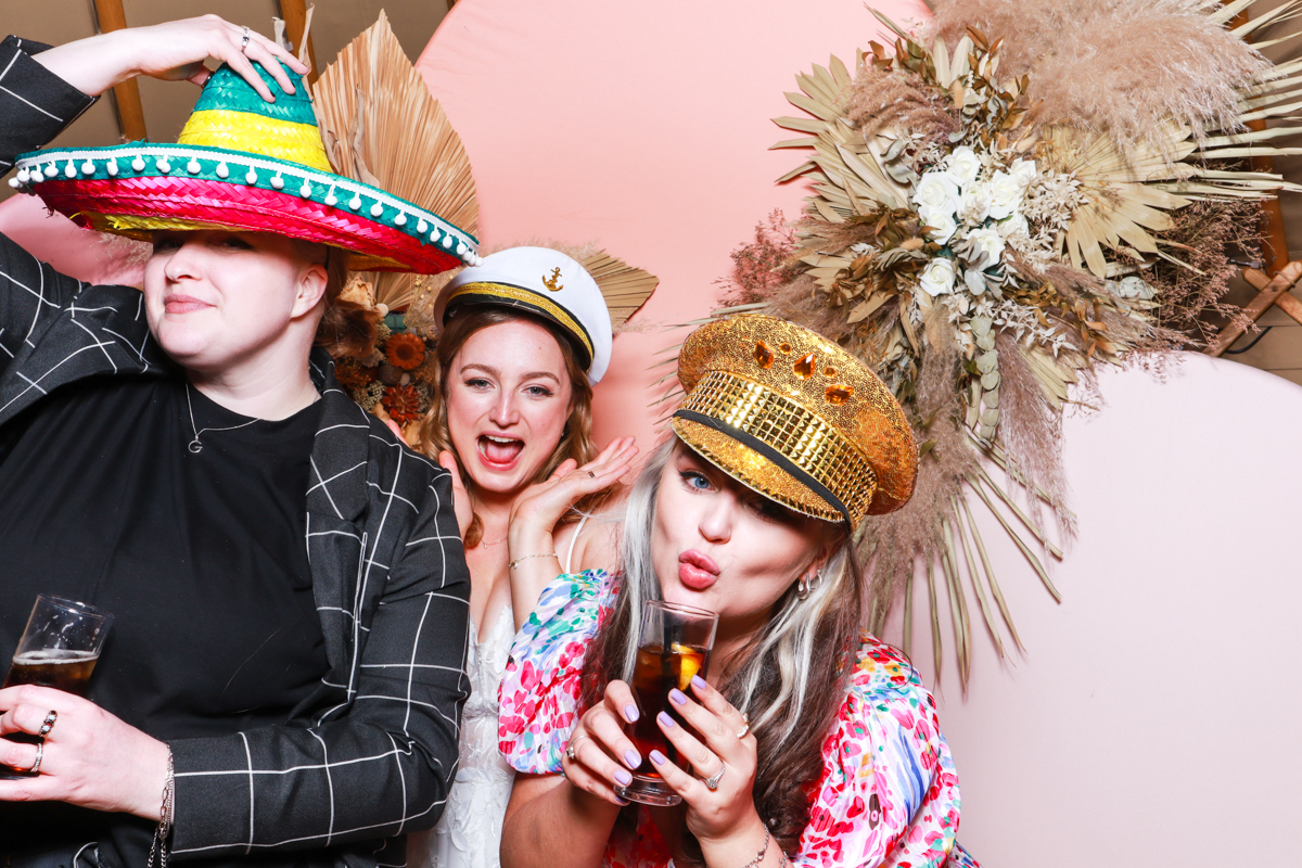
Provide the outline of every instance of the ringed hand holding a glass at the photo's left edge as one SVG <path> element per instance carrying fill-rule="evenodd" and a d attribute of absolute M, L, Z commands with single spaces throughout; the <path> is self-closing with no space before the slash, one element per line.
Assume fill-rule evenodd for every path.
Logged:
<path fill-rule="evenodd" d="M 0 690 L 0 735 L 38 735 L 57 718 L 40 746 L 33 778 L 0 781 L 0 802 L 68 802 L 95 811 L 158 820 L 167 782 L 168 746 L 109 714 L 92 701 L 49 687 Z M 36 744 L 0 740 L 0 764 L 20 772 L 36 763 Z"/>

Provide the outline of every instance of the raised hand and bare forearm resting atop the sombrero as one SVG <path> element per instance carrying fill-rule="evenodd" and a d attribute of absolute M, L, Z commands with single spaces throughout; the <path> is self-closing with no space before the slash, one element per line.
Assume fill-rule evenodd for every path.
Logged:
<path fill-rule="evenodd" d="M 285 92 L 293 94 L 294 86 L 280 64 L 299 74 L 307 66 L 253 29 L 247 30 L 249 43 L 243 46 L 245 33 L 245 27 L 217 16 L 202 16 L 79 39 L 43 51 L 35 60 L 91 96 L 135 75 L 203 85 L 208 79 L 203 61 L 208 57 L 229 64 L 267 102 L 275 98 L 251 61 L 262 64 Z"/>

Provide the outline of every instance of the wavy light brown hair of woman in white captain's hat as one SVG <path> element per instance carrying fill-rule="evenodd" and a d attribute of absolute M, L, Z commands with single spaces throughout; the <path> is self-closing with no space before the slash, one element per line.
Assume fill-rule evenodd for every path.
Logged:
<path fill-rule="evenodd" d="M 570 409 L 569 416 L 565 420 L 565 429 L 561 433 L 561 439 L 556 444 L 556 448 L 552 449 L 552 454 L 547 458 L 542 468 L 538 471 L 538 475 L 534 476 L 531 481 L 543 481 L 551 476 L 552 471 L 555 471 L 556 467 L 559 467 L 566 458 L 573 458 L 579 465 L 586 465 L 596 457 L 598 449 L 592 442 L 592 387 L 587 381 L 587 373 L 583 372 L 583 368 L 579 364 L 574 345 L 565 336 L 561 328 L 540 316 L 533 316 L 530 314 L 508 310 L 505 307 L 495 307 L 491 305 L 464 307 L 458 310 L 457 315 L 448 321 L 443 334 L 439 336 L 439 345 L 435 350 L 437 360 L 436 383 L 439 387 L 432 390 L 434 397 L 430 402 L 430 410 L 424 414 L 424 419 L 421 420 L 415 449 L 435 459 L 437 459 L 440 452 L 450 452 L 456 455 L 457 468 L 461 471 L 461 478 L 466 480 L 467 487 L 474 483 L 466 474 L 465 462 L 461 459 L 461 455 L 457 455 L 457 450 L 452 446 L 452 436 L 448 432 L 447 394 L 448 375 L 452 370 L 452 360 L 457 358 L 457 353 L 461 351 L 461 347 L 466 345 L 466 341 L 469 341 L 470 336 L 475 332 L 486 329 L 491 325 L 500 325 L 501 323 L 513 323 L 518 320 L 542 325 L 553 338 L 556 338 L 556 344 L 561 347 L 561 357 L 565 359 L 565 372 L 569 375 L 570 381 Z M 578 521 L 578 517 L 583 513 L 599 508 L 609 496 L 609 492 L 611 489 L 607 489 L 579 500 L 561 518 L 561 523 Z M 473 497 L 474 492 L 471 491 L 471 498 Z M 480 539 L 483 539 L 483 522 L 479 519 L 477 513 L 470 527 L 466 530 L 466 548 L 479 545 Z"/>

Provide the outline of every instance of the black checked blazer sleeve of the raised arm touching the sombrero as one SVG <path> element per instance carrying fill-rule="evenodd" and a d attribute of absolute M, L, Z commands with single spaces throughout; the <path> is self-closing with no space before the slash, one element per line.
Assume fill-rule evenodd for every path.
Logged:
<path fill-rule="evenodd" d="M 17 36 L 0 42 L 0 173 L 95 102 L 31 59 L 46 48 Z M 82 286 L 0 234 L 0 373 Z"/>

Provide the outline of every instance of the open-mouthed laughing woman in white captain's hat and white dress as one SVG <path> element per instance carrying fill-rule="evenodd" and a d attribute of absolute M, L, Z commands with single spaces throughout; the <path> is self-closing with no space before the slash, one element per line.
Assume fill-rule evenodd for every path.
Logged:
<path fill-rule="evenodd" d="M 637 448 L 631 437 L 600 453 L 592 444 L 592 385 L 611 359 L 611 314 L 575 259 L 534 246 L 491 254 L 444 286 L 434 316 L 443 327 L 439 388 L 417 448 L 465 481 L 456 496 L 467 524 L 471 692 L 457 783 L 439 825 L 413 835 L 409 860 L 493 868 L 514 777 L 497 752 L 510 642 L 557 573 L 613 561 L 615 523 L 589 515 L 609 509 Z"/>

